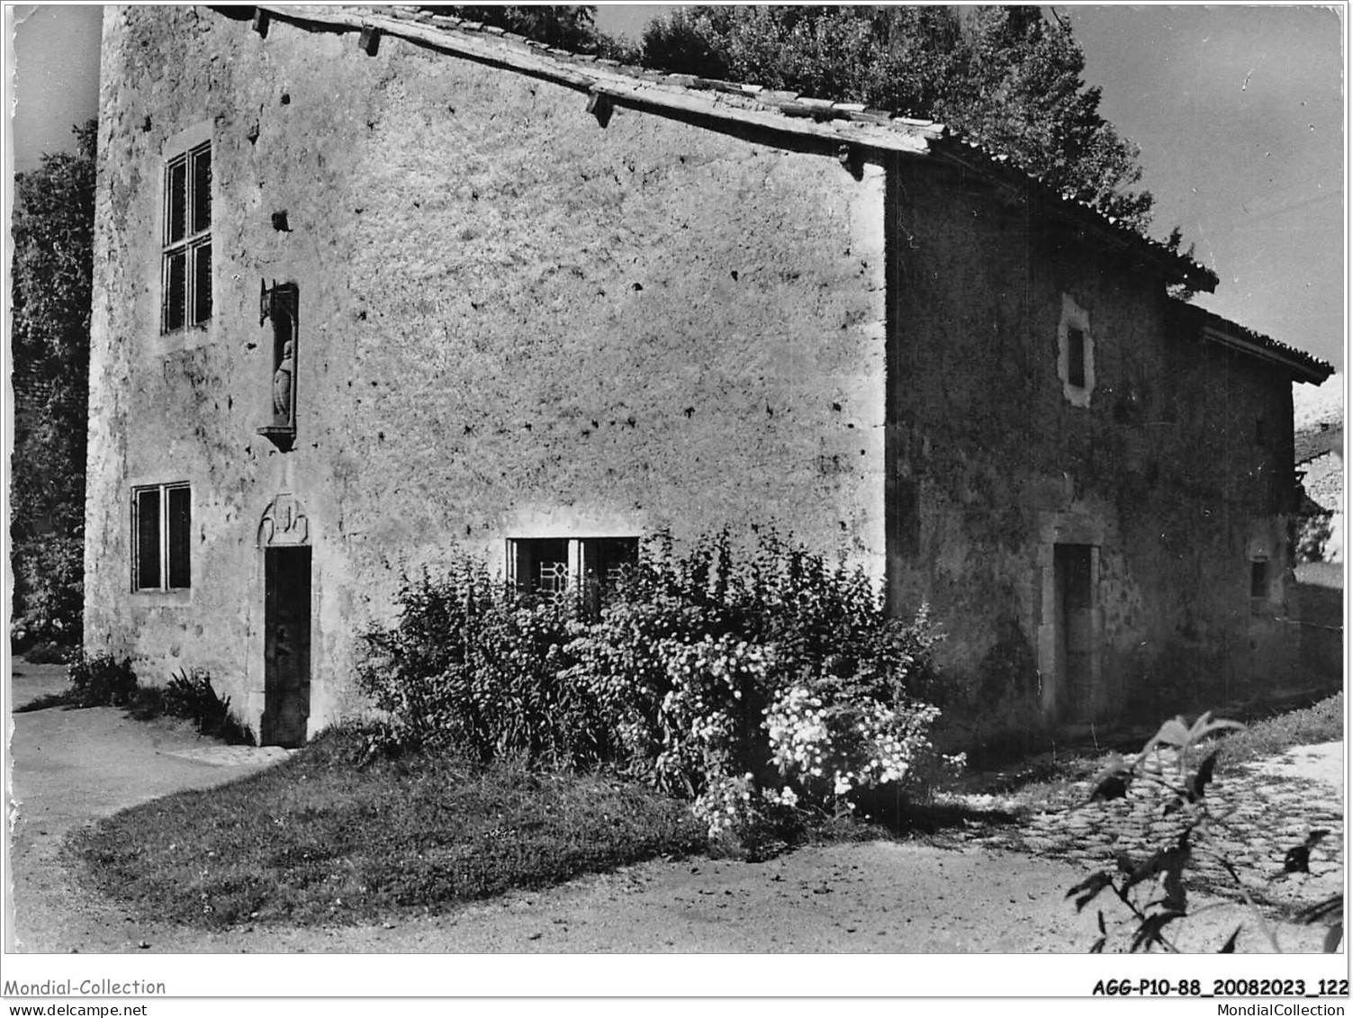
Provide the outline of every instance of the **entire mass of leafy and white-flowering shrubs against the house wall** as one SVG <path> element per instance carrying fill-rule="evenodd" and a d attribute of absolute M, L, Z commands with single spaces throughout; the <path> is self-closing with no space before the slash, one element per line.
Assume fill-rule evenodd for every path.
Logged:
<path fill-rule="evenodd" d="M 861 789 L 915 787 L 939 758 L 938 639 L 888 615 L 861 570 L 758 533 L 675 554 L 648 541 L 599 617 L 518 600 L 483 566 L 405 581 L 400 619 L 365 634 L 363 689 L 391 738 L 563 766 L 614 764 L 693 797 L 713 835 L 796 805 L 848 811 Z"/>

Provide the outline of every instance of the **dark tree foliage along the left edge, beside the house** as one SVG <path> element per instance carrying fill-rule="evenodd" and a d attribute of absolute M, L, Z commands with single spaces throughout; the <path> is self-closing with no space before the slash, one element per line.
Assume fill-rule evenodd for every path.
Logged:
<path fill-rule="evenodd" d="M 97 123 L 15 175 L 11 230 L 15 635 L 78 636 Z"/>

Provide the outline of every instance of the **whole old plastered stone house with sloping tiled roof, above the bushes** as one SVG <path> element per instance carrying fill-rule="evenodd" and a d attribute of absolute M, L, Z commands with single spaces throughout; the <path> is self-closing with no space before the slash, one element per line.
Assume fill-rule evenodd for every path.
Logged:
<path fill-rule="evenodd" d="M 129 7 L 99 145 L 85 643 L 206 669 L 265 742 L 361 709 L 403 571 L 755 521 L 930 602 L 962 738 L 1289 680 L 1327 366 L 938 126 L 453 19 Z"/>

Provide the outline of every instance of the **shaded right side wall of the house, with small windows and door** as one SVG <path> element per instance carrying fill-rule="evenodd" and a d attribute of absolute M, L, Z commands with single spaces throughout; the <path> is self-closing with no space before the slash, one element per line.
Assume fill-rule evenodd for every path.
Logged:
<path fill-rule="evenodd" d="M 948 632 L 953 738 L 1019 742 L 1288 684 L 1289 376 L 1204 341 L 1155 271 L 1027 194 L 898 161 L 888 203 L 889 583 Z M 1068 298 L 1089 322 L 1088 406 L 1059 374 Z M 1099 674 L 1070 699 L 1058 541 L 1097 548 Z M 1257 556 L 1270 582 L 1253 600 Z"/>

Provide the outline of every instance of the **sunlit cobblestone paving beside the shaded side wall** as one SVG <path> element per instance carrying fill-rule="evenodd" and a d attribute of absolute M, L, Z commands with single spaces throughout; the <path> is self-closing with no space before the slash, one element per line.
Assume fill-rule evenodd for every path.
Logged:
<path fill-rule="evenodd" d="M 1155 765 L 1172 773 L 1174 761 Z M 1047 808 L 1023 812 L 1012 824 L 984 824 L 965 838 L 992 849 L 1080 862 L 1086 869 L 1112 869 L 1119 853 L 1145 860 L 1158 847 L 1173 846 L 1184 826 L 1180 812 L 1166 814 L 1169 799 L 1158 785 L 1134 781 L 1127 799 L 1088 803 L 1091 782 L 1068 787 Z M 1237 768 L 1219 774 L 1206 792 L 1212 822 L 1195 835 L 1191 873 L 1206 884 L 1234 888 L 1218 857 L 1235 866 L 1256 900 L 1270 904 L 1310 904 L 1344 885 L 1342 792 L 1322 781 L 1281 777 L 1260 768 Z M 973 810 L 1019 812 L 1004 796 L 955 796 Z M 1310 873 L 1285 873 L 1288 849 L 1316 830 L 1327 831 L 1311 849 Z"/>

